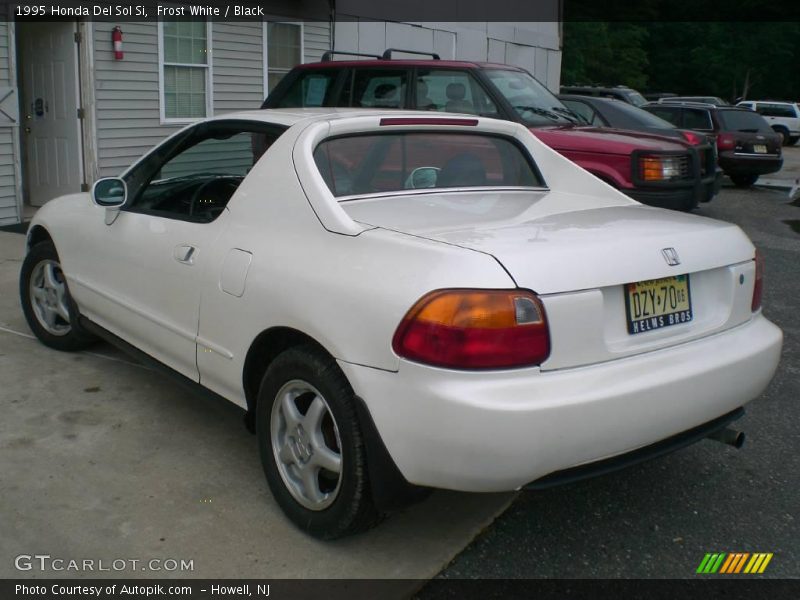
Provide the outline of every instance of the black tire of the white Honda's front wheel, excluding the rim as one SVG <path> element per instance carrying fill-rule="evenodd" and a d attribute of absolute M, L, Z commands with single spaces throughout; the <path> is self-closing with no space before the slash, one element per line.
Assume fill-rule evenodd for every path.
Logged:
<path fill-rule="evenodd" d="M 32 297 L 31 279 L 37 273 L 37 267 L 39 265 L 44 266 L 48 263 L 53 265 L 54 273 L 60 278 L 59 283 L 63 285 L 64 290 L 63 299 L 66 305 L 67 318 L 62 316 L 56 317 L 56 325 L 58 326 L 59 333 L 48 331 L 42 318 L 37 313 L 37 308 L 34 306 Z M 78 322 L 80 314 L 78 306 L 69 293 L 67 282 L 61 271 L 58 252 L 56 252 L 56 247 L 52 242 L 40 242 L 28 252 L 25 260 L 22 262 L 22 270 L 20 271 L 19 295 L 22 303 L 22 312 L 25 314 L 25 320 L 28 322 L 28 326 L 45 346 L 64 352 L 75 352 L 88 348 L 97 341 L 97 338 L 85 331 Z"/>

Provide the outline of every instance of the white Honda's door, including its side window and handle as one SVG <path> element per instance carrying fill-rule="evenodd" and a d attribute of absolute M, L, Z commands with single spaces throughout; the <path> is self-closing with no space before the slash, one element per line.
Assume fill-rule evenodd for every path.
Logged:
<path fill-rule="evenodd" d="M 127 200 L 92 228 L 82 264 L 82 312 L 181 374 L 198 380 L 200 289 L 228 200 L 265 150 L 235 122 L 202 123 L 168 140 L 123 176 Z M 101 209 L 102 210 L 102 209 Z"/>

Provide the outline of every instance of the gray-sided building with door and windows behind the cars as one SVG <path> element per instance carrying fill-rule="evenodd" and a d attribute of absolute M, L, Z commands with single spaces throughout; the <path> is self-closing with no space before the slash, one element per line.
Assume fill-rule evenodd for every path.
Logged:
<path fill-rule="evenodd" d="M 123 31 L 123 57 L 112 32 Z M 522 66 L 557 91 L 559 23 L 0 22 L 0 225 L 118 175 L 197 118 L 257 108 L 326 50 Z"/>

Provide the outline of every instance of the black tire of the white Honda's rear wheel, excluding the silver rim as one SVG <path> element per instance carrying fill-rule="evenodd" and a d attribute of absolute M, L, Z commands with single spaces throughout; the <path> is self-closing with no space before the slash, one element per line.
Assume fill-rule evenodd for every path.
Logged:
<path fill-rule="evenodd" d="M 283 413 L 280 412 L 283 409 L 275 408 L 273 410 L 273 407 L 280 402 L 279 392 L 283 397 L 286 386 L 291 386 L 296 382 L 307 384 L 318 391 L 329 410 L 333 427 L 338 431 L 335 445 L 339 446 L 340 471 L 337 488 L 334 490 L 335 495 L 332 500 L 327 500 L 331 502 L 329 505 L 313 510 L 295 498 L 289 487 L 291 483 L 284 480 L 284 477 L 289 477 L 287 469 L 299 473 L 299 471 L 292 471 L 297 468 L 299 463 L 287 467 L 286 461 L 281 461 L 282 466 L 279 467 L 280 459 L 276 456 L 278 450 L 273 449 L 273 417 L 278 423 L 276 427 L 280 428 L 280 423 L 285 421 L 281 416 Z M 309 392 L 309 394 L 316 400 L 313 393 Z M 299 407 L 302 401 L 301 394 L 298 396 L 295 406 Z M 310 399 L 307 401 L 311 402 Z M 289 519 L 297 527 L 319 539 L 332 540 L 352 535 L 369 529 L 381 520 L 381 514 L 375 508 L 372 500 L 366 447 L 355 402 L 353 389 L 336 362 L 313 346 L 298 346 L 279 355 L 267 369 L 258 392 L 256 431 L 261 464 L 269 487 L 275 500 Z M 279 411 L 280 414 L 276 414 L 276 411 Z M 305 412 L 301 408 L 298 412 L 305 418 L 309 413 L 309 408 L 306 407 Z M 296 439 L 289 434 L 289 429 L 288 426 L 280 429 L 280 431 L 285 431 L 287 447 L 289 446 L 288 440 Z M 280 436 L 281 434 L 276 435 Z M 305 433 L 298 435 L 309 440 L 313 437 L 313 435 Z M 276 439 L 278 440 L 276 445 L 283 447 L 280 444 L 280 438 Z M 308 448 L 309 445 L 310 443 L 304 448 Z M 297 448 L 296 445 L 294 447 Z M 312 450 L 311 455 L 313 454 Z M 306 461 L 310 460 L 310 457 L 306 458 Z M 317 483 L 324 481 L 321 477 L 325 473 L 322 470 L 316 473 L 315 481 Z M 292 489 L 296 494 L 297 488 Z"/>

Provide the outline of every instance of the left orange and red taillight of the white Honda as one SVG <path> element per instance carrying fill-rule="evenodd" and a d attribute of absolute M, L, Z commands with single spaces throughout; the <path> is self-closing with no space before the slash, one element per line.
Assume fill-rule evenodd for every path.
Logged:
<path fill-rule="evenodd" d="M 438 290 L 408 311 L 392 348 L 437 367 L 502 369 L 541 364 L 550 354 L 550 334 L 533 292 Z"/>

